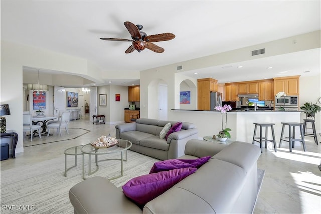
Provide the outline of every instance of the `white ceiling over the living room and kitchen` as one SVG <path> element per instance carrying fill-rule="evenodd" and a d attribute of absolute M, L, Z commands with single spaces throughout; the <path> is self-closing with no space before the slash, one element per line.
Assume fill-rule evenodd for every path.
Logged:
<path fill-rule="evenodd" d="M 148 35 L 171 32 L 176 38 L 155 43 L 165 49 L 164 53 L 146 49 L 130 54 L 125 54 L 130 42 L 99 39 L 131 39 L 125 21 L 143 25 Z M 141 70 L 320 30 L 320 26 L 319 0 L 1 1 L 2 40 L 86 58 L 103 70 L 106 85 L 110 84 L 108 81 L 119 85 L 139 82 L 138 75 L 124 78 L 127 72 L 138 74 Z M 314 49 L 185 74 L 233 82 L 280 75 L 317 75 L 320 64 L 320 49 Z M 232 68 L 222 72 L 225 66 Z M 267 72 L 269 66 L 273 69 Z M 48 72 L 45 67 L 42 69 Z M 202 75 L 194 74 L 200 71 Z"/>

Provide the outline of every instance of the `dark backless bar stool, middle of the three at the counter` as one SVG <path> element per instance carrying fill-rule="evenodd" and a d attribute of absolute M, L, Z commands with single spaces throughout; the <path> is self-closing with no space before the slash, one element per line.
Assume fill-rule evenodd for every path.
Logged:
<path fill-rule="evenodd" d="M 305 151 L 305 141 L 304 141 L 304 132 L 303 132 L 303 123 L 300 122 L 281 122 L 282 124 L 282 131 L 281 131 L 281 138 L 279 148 L 281 147 L 282 141 L 289 142 L 290 152 L 292 152 L 292 147 L 294 148 L 295 141 L 302 142 L 303 150 Z M 283 137 L 284 135 L 284 127 L 285 125 L 289 126 L 289 137 Z M 301 139 L 295 139 L 295 128 L 299 127 L 301 132 Z M 289 139 L 289 140 L 285 140 Z"/>

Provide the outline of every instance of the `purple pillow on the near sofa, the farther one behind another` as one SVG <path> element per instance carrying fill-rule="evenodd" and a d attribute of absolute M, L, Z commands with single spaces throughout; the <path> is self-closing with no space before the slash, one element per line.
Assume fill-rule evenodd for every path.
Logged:
<path fill-rule="evenodd" d="M 159 171 L 168 171 L 177 168 L 199 168 L 210 158 L 211 156 L 201 157 L 197 159 L 169 159 L 164 161 L 158 161 L 154 163 L 153 167 L 150 169 L 149 174 L 157 173 Z"/>

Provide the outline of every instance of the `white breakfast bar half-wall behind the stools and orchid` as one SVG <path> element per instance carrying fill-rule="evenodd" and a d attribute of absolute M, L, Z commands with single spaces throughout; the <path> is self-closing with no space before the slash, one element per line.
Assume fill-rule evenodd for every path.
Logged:
<path fill-rule="evenodd" d="M 270 122 L 275 123 L 274 132 L 277 145 L 280 140 L 282 124 L 281 122 L 300 122 L 300 114 L 302 111 L 238 111 L 231 110 L 225 113 L 220 111 L 205 110 L 177 110 L 172 109 L 169 117 L 178 121 L 189 121 L 189 118 L 196 124 L 199 131 L 199 139 L 204 136 L 216 135 L 220 130 L 225 128 L 225 117 L 227 118 L 227 128 L 231 128 L 231 140 L 252 143 L 254 133 L 254 122 Z M 223 116 L 223 119 L 222 119 Z M 285 130 L 284 134 L 288 134 Z M 270 133 L 269 133 L 270 134 Z M 269 136 L 270 137 L 270 136 Z M 299 145 L 296 143 L 295 145 Z M 285 143 L 284 143 L 285 146 Z"/>

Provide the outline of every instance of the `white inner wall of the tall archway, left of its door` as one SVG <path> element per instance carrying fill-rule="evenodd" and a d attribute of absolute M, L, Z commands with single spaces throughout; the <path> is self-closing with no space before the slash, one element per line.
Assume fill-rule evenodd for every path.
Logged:
<path fill-rule="evenodd" d="M 158 119 L 158 85 L 167 85 L 163 79 L 155 79 L 148 84 L 148 118 Z"/>

